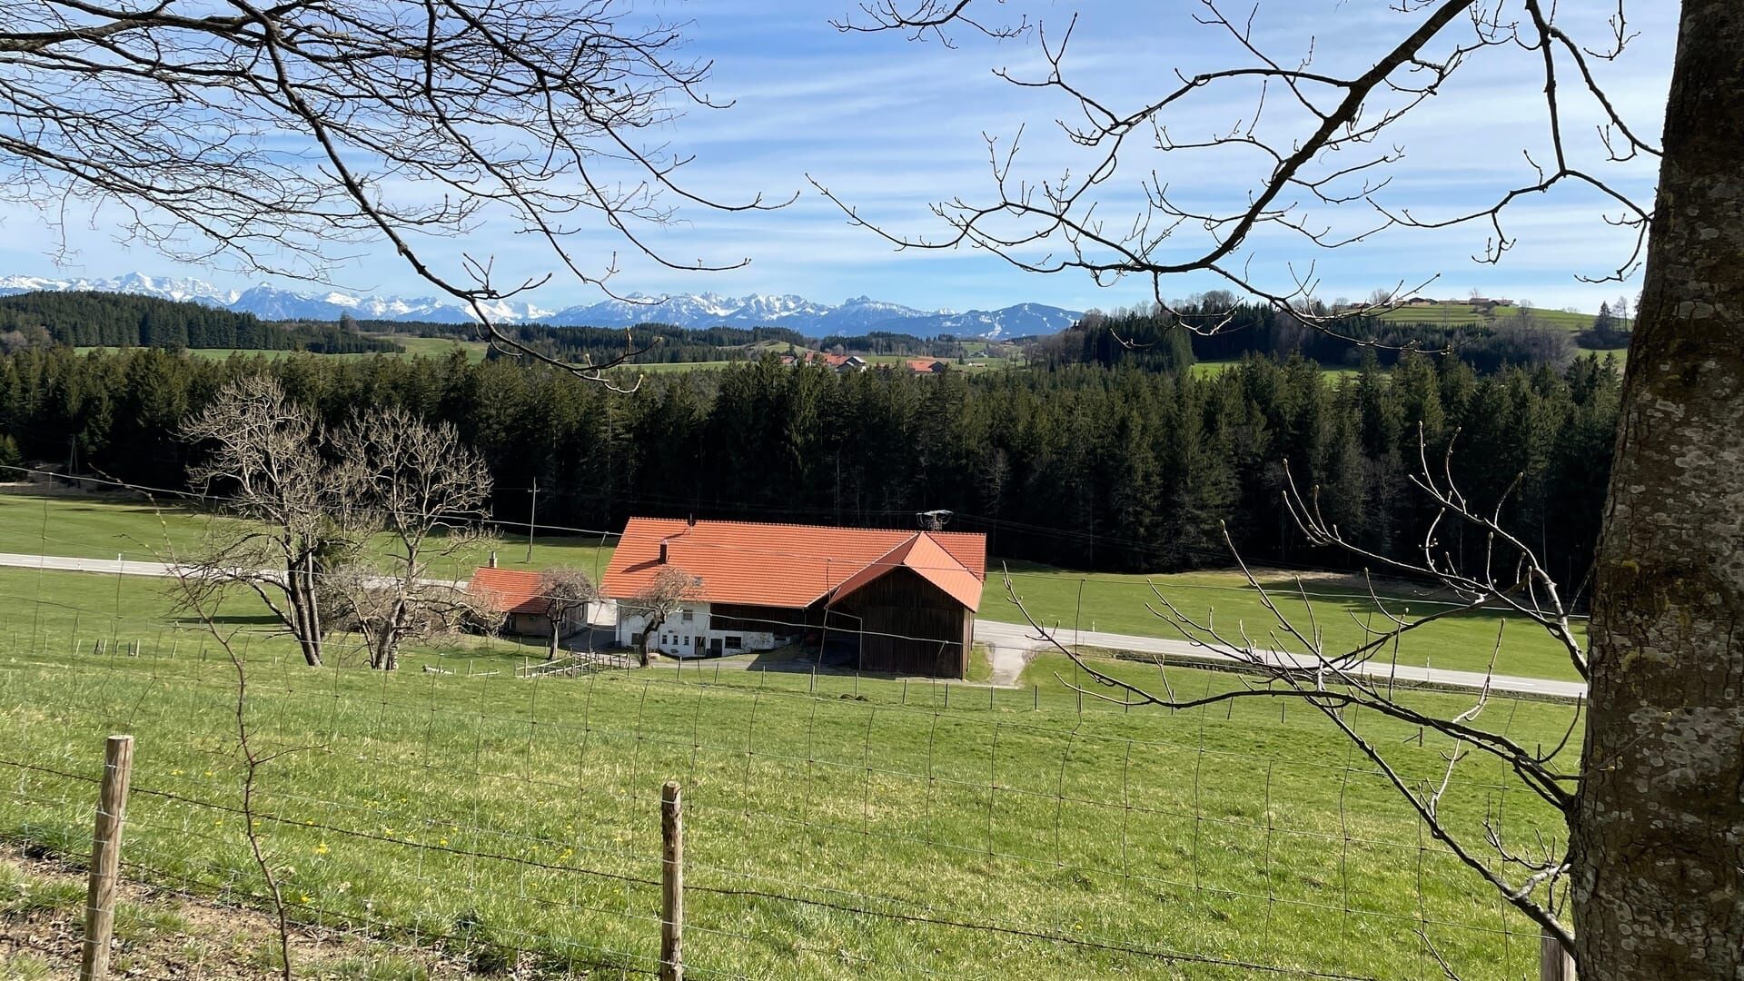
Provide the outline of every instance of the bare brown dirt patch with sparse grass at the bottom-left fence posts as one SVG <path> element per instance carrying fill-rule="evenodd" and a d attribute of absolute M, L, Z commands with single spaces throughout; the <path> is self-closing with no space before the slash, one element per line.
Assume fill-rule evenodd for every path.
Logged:
<path fill-rule="evenodd" d="M 0 979 L 78 976 L 85 875 L 65 862 L 0 848 Z M 446 981 L 476 978 L 464 953 L 408 948 L 345 930 L 293 927 L 296 978 Z M 504 971 L 499 978 L 514 978 Z M 283 978 L 274 916 L 215 899 L 122 883 L 112 979 Z"/>

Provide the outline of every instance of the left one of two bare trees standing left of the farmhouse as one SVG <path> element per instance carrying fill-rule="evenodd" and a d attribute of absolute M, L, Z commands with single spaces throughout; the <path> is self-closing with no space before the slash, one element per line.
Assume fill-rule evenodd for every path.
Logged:
<path fill-rule="evenodd" d="M 359 536 L 356 466 L 323 457 L 314 417 L 262 375 L 225 386 L 181 433 L 204 454 L 190 480 L 239 518 L 215 525 L 188 559 L 197 574 L 183 592 L 248 587 L 296 639 L 303 660 L 319 665 L 326 634 L 319 574 Z"/>

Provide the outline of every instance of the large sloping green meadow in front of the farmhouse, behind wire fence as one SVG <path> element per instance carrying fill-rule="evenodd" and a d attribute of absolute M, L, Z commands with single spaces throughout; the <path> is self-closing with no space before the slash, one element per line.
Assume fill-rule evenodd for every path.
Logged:
<path fill-rule="evenodd" d="M 258 908 L 235 674 L 162 588 L 0 569 L 0 838 L 80 855 L 101 740 L 127 731 L 127 875 Z M 255 813 L 298 920 L 520 948 L 523 978 L 645 972 L 657 789 L 678 779 L 696 978 L 1441 978 L 1420 932 L 1461 978 L 1536 962 L 1536 932 L 1301 705 L 1080 710 L 1048 660 L 1038 688 L 991 696 L 691 667 L 520 681 L 525 648 L 478 641 L 391 674 L 335 642 L 317 670 L 255 604 L 220 614 L 242 632 L 255 751 L 291 751 L 260 770 Z M 1493 700 L 1484 719 L 1554 745 L 1571 710 Z M 1437 740 L 1353 721 L 1407 779 L 1444 766 Z M 1500 803 L 1510 834 L 1554 833 L 1502 785 L 1461 763 L 1444 817 L 1472 833 Z"/>

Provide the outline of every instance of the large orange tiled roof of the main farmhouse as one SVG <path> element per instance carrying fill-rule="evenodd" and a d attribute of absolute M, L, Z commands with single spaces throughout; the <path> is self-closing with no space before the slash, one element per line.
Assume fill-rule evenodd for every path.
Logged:
<path fill-rule="evenodd" d="M 909 567 L 977 609 L 987 578 L 987 536 L 975 532 L 630 518 L 602 592 L 630 599 L 647 588 L 663 541 L 668 566 L 703 580 L 705 602 L 800 609 Z"/>

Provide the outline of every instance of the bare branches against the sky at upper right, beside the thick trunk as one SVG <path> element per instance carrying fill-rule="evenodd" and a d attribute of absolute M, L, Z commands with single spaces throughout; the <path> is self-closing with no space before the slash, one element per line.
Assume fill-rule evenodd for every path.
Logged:
<path fill-rule="evenodd" d="M 1613 35 L 1596 47 L 1571 38 L 1554 23 L 1540 0 L 1435 0 L 1404 3 L 1409 17 L 1402 37 L 1376 52 L 1352 73 L 1313 66 L 1315 42 L 1303 38 L 1301 51 L 1264 51 L 1254 38 L 1254 16 L 1230 16 L 1219 0 L 1200 0 L 1193 19 L 1240 47 L 1247 63 L 1196 75 L 1174 73 L 1153 98 L 1135 106 L 1116 106 L 1083 87 L 1067 70 L 1073 17 L 1064 31 L 1050 35 L 1045 24 L 996 24 L 975 19 L 985 0 L 914 0 L 910 3 L 863 3 L 856 17 L 839 21 L 841 30 L 900 31 L 919 40 L 949 37 L 952 26 L 992 37 L 1034 31 L 1046 70 L 1038 77 L 996 70 L 1018 87 L 1062 96 L 1074 113 L 1057 120 L 1064 138 L 1083 152 L 1083 161 L 1060 176 L 1034 176 L 1020 169 L 1022 134 L 1001 141 L 989 136 L 992 192 L 985 201 L 957 196 L 933 206 L 945 225 L 935 237 L 898 236 L 862 218 L 858 208 L 813 182 L 856 223 L 872 229 L 900 248 L 952 250 L 977 246 L 1031 272 L 1078 271 L 1109 286 L 1127 278 L 1148 281 L 1156 304 L 1174 312 L 1191 330 L 1217 332 L 1231 319 L 1233 304 L 1210 312 L 1175 311 L 1165 297 L 1165 279 L 1182 272 L 1210 272 L 1242 293 L 1257 297 L 1282 312 L 1332 330 L 1329 316 L 1311 302 L 1318 285 L 1315 264 L 1292 267 L 1282 285 L 1263 283 L 1249 271 L 1249 239 L 1264 232 L 1289 236 L 1305 248 L 1336 250 L 1374 237 L 1388 229 L 1446 229 L 1481 223 L 1491 229 L 1488 248 L 1477 258 L 1500 262 L 1512 246 L 1503 216 L 1507 206 L 1528 196 L 1578 185 L 1599 194 L 1613 209 L 1608 220 L 1634 232 L 1634 250 L 1601 279 L 1622 279 L 1639 262 L 1650 213 L 1606 180 L 1606 166 L 1659 148 L 1639 138 L 1613 110 L 1611 99 L 1594 80 L 1592 65 L 1615 58 L 1629 40 L 1622 10 L 1613 17 Z M 1516 9 L 1519 7 L 1519 9 Z M 1418 110 L 1467 65 L 1493 49 L 1524 45 L 1543 52 L 1545 91 L 1550 106 L 1554 161 L 1531 162 L 1517 187 L 1495 201 L 1444 216 L 1423 216 L 1409 202 L 1388 197 L 1388 169 L 1404 157 L 1392 145 L 1390 127 Z M 1571 86 L 1563 86 L 1573 75 Z M 1573 89 L 1573 94 L 1570 93 Z M 1182 136 L 1172 129 L 1177 113 L 1210 99 L 1249 99 L 1252 110 L 1226 131 Z M 1564 141 L 1561 103 L 1585 96 L 1604 119 L 1604 147 L 1598 161 L 1580 161 Z M 1224 161 L 1231 180 L 1252 161 L 1252 187 L 1243 204 L 1226 211 L 1191 204 L 1160 176 L 1174 157 L 1214 154 Z M 1151 154 L 1153 159 L 1142 159 Z M 1155 161 L 1155 162 L 1153 162 Z M 1139 168 L 1142 204 L 1135 215 L 1118 218 L 1099 209 L 1100 197 L 1121 166 Z M 1203 234 L 1203 237 L 1189 236 Z M 1371 293 L 1369 302 L 1345 314 L 1376 314 L 1421 285 L 1397 283 Z M 1217 309 L 1221 307 L 1221 309 Z M 1352 335 L 1352 340 L 1367 340 Z"/>

